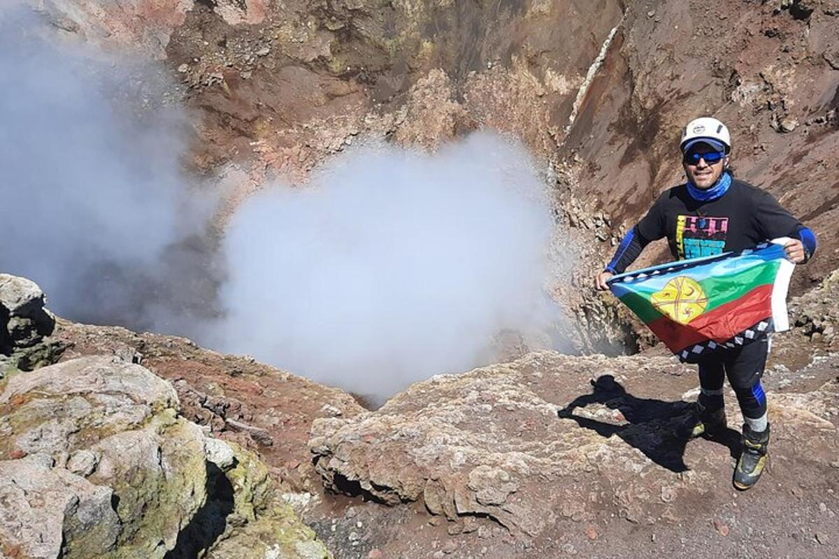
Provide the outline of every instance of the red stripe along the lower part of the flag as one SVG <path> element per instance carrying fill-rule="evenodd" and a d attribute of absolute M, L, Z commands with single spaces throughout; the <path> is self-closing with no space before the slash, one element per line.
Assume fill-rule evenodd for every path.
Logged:
<path fill-rule="evenodd" d="M 661 317 L 647 325 L 674 353 L 708 339 L 725 342 L 772 317 L 772 287 L 771 283 L 755 287 L 741 298 L 700 314 L 689 324 Z"/>

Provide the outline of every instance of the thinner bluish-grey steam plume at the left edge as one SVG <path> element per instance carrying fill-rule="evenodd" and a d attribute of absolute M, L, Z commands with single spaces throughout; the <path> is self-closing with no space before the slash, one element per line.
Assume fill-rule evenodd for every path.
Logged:
<path fill-rule="evenodd" d="M 181 172 L 185 119 L 161 103 L 159 67 L 47 37 L 33 13 L 0 11 L 0 270 L 65 316 L 167 328 L 211 210 Z"/>

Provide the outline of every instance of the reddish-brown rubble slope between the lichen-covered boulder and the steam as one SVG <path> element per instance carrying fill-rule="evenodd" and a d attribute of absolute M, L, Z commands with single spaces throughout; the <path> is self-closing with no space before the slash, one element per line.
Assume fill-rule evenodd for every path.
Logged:
<path fill-rule="evenodd" d="M 290 491 L 320 491 L 307 446 L 311 422 L 364 411 L 344 391 L 178 336 L 135 334 L 59 318 L 51 339 L 68 346 L 63 359 L 117 355 L 128 361 L 142 355 L 144 366 L 175 387 L 184 417 L 207 427 L 214 437 L 258 453 Z"/>

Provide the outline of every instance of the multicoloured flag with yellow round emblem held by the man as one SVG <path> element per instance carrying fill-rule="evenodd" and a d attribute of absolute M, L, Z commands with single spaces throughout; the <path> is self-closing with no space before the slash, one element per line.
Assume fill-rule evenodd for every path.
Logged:
<path fill-rule="evenodd" d="M 612 293 L 682 361 L 789 329 L 786 294 L 795 264 L 776 239 L 753 249 L 612 277 Z"/>

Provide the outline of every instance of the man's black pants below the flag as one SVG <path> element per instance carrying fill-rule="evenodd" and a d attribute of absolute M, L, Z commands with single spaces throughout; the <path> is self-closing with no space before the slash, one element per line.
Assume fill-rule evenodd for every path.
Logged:
<path fill-rule="evenodd" d="M 709 410 L 723 406 L 722 383 L 728 382 L 737 394 L 743 417 L 759 419 L 766 413 L 766 394 L 760 379 L 769 355 L 769 339 L 761 339 L 737 349 L 718 351 L 699 363 L 699 400 Z"/>

